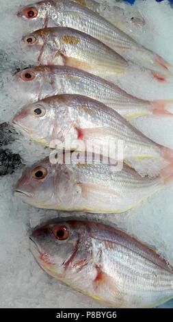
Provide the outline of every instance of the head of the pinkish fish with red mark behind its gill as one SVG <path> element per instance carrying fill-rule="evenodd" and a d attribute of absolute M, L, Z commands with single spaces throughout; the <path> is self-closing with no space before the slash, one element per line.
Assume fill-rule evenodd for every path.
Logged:
<path fill-rule="evenodd" d="M 28 104 L 13 119 L 19 132 L 44 145 L 49 145 L 54 124 L 55 107 L 46 101 Z"/>

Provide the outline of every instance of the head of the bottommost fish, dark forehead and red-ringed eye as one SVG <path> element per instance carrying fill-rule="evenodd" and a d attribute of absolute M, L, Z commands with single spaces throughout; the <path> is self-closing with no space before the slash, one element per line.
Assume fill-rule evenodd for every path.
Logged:
<path fill-rule="evenodd" d="M 59 219 L 35 230 L 30 249 L 40 266 L 62 280 L 87 267 L 92 260 L 87 225 L 85 221 Z"/>

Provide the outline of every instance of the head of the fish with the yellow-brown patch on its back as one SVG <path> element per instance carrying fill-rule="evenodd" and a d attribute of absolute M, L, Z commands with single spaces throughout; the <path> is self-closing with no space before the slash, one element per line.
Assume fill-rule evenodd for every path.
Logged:
<path fill-rule="evenodd" d="M 22 38 L 41 65 L 63 64 L 62 41 L 55 28 L 38 29 Z"/>

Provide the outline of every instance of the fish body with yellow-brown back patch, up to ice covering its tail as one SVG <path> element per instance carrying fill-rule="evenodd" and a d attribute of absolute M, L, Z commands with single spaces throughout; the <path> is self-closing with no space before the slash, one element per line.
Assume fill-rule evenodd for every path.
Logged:
<path fill-rule="evenodd" d="M 44 28 L 24 36 L 23 41 L 38 51 L 40 64 L 78 67 L 94 75 L 124 73 L 127 62 L 99 40 L 66 27 Z"/>

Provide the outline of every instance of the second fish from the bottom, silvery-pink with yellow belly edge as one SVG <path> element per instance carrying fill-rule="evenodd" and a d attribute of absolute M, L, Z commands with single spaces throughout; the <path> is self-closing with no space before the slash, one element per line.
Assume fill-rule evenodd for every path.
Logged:
<path fill-rule="evenodd" d="M 118 171 L 99 158 L 92 163 L 90 155 L 74 153 L 50 156 L 26 169 L 14 195 L 36 208 L 114 214 L 139 206 L 173 179 L 172 164 L 150 178 L 129 166 Z"/>

